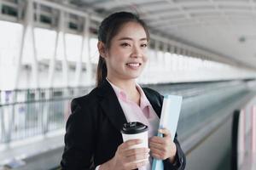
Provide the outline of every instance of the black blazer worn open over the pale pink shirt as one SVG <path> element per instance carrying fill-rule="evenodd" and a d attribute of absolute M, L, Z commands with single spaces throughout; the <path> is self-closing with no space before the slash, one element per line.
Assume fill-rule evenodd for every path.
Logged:
<path fill-rule="evenodd" d="M 154 111 L 160 117 L 163 97 L 150 88 L 143 88 Z M 120 129 L 126 122 L 125 114 L 113 88 L 104 81 L 90 94 L 73 99 L 72 114 L 68 117 L 65 148 L 61 168 L 68 170 L 95 169 L 113 158 L 119 144 L 123 143 Z M 164 161 L 165 169 L 183 170 L 186 159 L 177 141 L 176 164 Z"/>

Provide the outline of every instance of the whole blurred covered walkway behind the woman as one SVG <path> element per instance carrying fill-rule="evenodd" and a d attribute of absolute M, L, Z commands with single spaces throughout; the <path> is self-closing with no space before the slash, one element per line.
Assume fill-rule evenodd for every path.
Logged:
<path fill-rule="evenodd" d="M 59 169 L 74 97 L 96 84 L 97 29 L 146 21 L 137 79 L 183 96 L 188 170 L 256 169 L 256 0 L 0 0 L 0 169 Z"/>

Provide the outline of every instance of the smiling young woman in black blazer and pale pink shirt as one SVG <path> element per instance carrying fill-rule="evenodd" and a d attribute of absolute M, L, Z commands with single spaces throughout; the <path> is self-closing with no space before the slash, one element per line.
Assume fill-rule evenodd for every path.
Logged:
<path fill-rule="evenodd" d="M 143 20 L 127 12 L 111 14 L 102 21 L 98 40 L 97 87 L 72 101 L 62 169 L 149 170 L 152 158 L 164 160 L 165 169 L 184 169 L 177 135 L 174 142 L 166 129 L 160 129 L 164 138 L 155 136 L 163 97 L 136 82 L 148 60 Z M 148 148 L 131 149 L 142 143 L 139 139 L 123 142 L 120 129 L 125 122 L 148 126 Z"/>

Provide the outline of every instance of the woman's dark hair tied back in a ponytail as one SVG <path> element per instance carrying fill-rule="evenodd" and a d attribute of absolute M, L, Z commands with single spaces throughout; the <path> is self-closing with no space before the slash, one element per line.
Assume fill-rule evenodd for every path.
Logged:
<path fill-rule="evenodd" d="M 144 23 L 143 20 L 139 19 L 137 14 L 132 14 L 129 12 L 118 12 L 114 14 L 110 14 L 106 19 L 102 20 L 102 24 L 98 30 L 98 41 L 101 41 L 105 44 L 106 48 L 110 48 L 112 38 L 118 34 L 121 26 L 125 25 L 127 22 L 137 22 L 141 26 L 143 26 L 147 40 L 149 41 L 149 33 L 148 27 Z M 100 55 L 97 73 L 96 73 L 96 86 L 100 86 L 107 77 L 107 65 L 105 59 Z"/>

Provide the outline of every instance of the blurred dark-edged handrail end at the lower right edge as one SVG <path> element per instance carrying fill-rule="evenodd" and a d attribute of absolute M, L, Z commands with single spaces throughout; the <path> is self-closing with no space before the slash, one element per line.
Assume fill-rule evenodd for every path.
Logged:
<path fill-rule="evenodd" d="M 241 105 L 233 113 L 232 122 L 232 147 L 231 147 L 231 167 L 232 170 L 249 170 L 253 164 L 253 156 L 256 155 L 254 144 L 255 117 L 256 117 L 256 95 Z M 253 153 L 255 152 L 255 153 Z"/>

